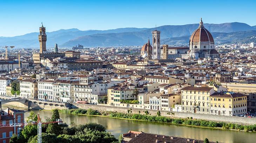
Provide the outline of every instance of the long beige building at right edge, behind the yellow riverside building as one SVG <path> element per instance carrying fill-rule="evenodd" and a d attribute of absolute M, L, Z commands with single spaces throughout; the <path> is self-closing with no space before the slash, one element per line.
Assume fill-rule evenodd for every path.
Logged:
<path fill-rule="evenodd" d="M 227 83 L 227 89 L 246 95 L 248 112 L 256 112 L 256 84 Z"/>

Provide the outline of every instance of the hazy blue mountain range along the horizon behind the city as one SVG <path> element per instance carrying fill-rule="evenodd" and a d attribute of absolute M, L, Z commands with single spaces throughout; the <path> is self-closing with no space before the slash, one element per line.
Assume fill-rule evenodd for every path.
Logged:
<path fill-rule="evenodd" d="M 82 44 L 85 47 L 96 46 L 125 46 L 143 45 L 150 39 L 151 31 L 161 31 L 161 44 L 188 44 L 191 33 L 199 24 L 163 25 L 156 28 L 118 28 L 111 30 L 60 29 L 46 32 L 47 47 L 58 43 L 60 47 L 72 47 Z M 214 37 L 215 43 L 256 42 L 256 25 L 245 23 L 204 24 Z M 47 30 L 47 27 L 46 27 Z M 0 45 L 14 45 L 15 47 L 39 47 L 39 32 L 28 33 L 14 37 L 0 37 Z"/>

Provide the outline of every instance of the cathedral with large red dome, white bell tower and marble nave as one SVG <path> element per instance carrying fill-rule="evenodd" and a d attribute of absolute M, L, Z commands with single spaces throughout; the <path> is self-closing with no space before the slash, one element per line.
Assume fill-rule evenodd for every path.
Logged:
<path fill-rule="evenodd" d="M 199 27 L 190 36 L 189 47 L 169 47 L 168 45 L 160 47 L 160 31 L 157 30 L 152 31 L 152 41 L 153 50 L 145 50 L 143 47 L 146 44 L 141 49 L 141 55 L 147 54 L 148 59 L 214 59 L 219 57 L 214 47 L 213 36 L 204 28 L 202 18 Z"/>

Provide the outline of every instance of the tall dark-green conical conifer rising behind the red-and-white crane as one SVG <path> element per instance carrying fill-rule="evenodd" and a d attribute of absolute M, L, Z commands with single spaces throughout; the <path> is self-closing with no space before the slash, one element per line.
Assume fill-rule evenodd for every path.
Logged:
<path fill-rule="evenodd" d="M 50 119 L 51 122 L 55 122 L 56 119 L 60 119 L 60 114 L 58 109 L 53 110 L 52 118 Z M 49 123 L 46 129 L 46 133 L 60 135 L 62 134 L 62 126 L 58 125 L 58 123 Z"/>

